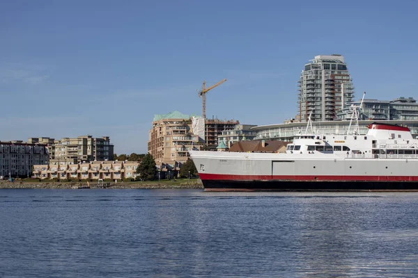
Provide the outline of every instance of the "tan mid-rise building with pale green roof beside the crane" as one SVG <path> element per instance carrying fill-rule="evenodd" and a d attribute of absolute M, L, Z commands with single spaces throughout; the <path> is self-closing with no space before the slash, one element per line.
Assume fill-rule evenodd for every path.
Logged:
<path fill-rule="evenodd" d="M 189 115 L 178 111 L 155 115 L 149 131 L 148 153 L 153 156 L 160 170 L 180 170 L 181 164 L 189 158 L 189 149 L 202 147 L 203 142 L 199 142 L 199 136 L 193 133 Z"/>

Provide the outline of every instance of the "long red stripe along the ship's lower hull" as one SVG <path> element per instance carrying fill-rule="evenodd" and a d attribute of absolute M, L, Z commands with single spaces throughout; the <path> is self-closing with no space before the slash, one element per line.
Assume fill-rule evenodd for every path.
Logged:
<path fill-rule="evenodd" d="M 418 176 L 271 176 L 240 174 L 199 174 L 202 180 L 222 181 L 418 181 Z"/>

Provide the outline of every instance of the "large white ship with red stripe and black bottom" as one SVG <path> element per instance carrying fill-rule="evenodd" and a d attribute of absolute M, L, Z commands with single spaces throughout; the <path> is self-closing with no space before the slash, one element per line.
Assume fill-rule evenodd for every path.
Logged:
<path fill-rule="evenodd" d="M 418 190 L 418 139 L 408 126 L 373 122 L 359 133 L 307 131 L 285 153 L 189 151 L 207 191 Z"/>

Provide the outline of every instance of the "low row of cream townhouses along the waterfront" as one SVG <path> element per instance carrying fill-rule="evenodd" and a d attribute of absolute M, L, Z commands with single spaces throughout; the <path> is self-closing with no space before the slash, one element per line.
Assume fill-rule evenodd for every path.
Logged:
<path fill-rule="evenodd" d="M 135 179 L 139 162 L 91 161 L 90 163 L 59 163 L 33 165 L 33 177 L 59 180 L 123 180 Z"/>

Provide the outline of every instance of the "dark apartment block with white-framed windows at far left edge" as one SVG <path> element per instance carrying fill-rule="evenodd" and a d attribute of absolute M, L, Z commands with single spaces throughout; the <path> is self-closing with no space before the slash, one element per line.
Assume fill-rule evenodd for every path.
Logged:
<path fill-rule="evenodd" d="M 23 141 L 0 142 L 0 176 L 30 177 L 33 165 L 49 162 L 46 145 Z"/>

